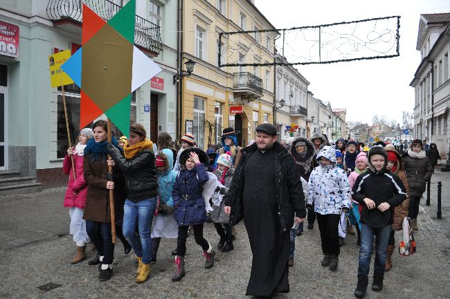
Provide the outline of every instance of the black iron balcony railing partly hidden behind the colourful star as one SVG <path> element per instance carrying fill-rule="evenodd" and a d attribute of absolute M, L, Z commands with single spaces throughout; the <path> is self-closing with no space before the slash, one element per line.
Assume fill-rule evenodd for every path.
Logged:
<path fill-rule="evenodd" d="M 82 24 L 82 4 L 89 6 L 105 21 L 114 17 L 122 8 L 109 0 L 49 0 L 46 8 L 48 19 L 53 21 L 55 26 L 73 24 L 76 27 L 75 32 L 78 33 Z M 138 15 L 135 21 L 134 44 L 150 51 L 152 56 L 158 55 L 161 52 L 161 28 Z M 73 28 L 69 30 L 74 31 Z"/>

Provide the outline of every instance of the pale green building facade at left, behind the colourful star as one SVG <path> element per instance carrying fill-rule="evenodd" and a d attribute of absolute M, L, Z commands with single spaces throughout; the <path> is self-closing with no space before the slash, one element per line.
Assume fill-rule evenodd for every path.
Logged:
<path fill-rule="evenodd" d="M 0 97 L 5 116 L 0 170 L 16 170 L 24 176 L 35 176 L 36 170 L 60 172 L 68 136 L 62 91 L 51 88 L 48 56 L 66 49 L 74 53 L 80 48 L 81 3 L 109 20 L 125 5 L 123 2 L 1 2 L 0 24 L 17 30 L 18 49 L 16 55 L 0 52 Z M 154 141 L 158 132 L 167 131 L 172 136 L 176 133 L 176 88 L 171 84 L 177 71 L 176 17 L 176 1 L 136 0 L 134 44 L 153 57 L 163 71 L 133 93 L 130 118 L 142 123 Z M 74 143 L 80 132 L 80 89 L 71 84 L 65 91 Z"/>

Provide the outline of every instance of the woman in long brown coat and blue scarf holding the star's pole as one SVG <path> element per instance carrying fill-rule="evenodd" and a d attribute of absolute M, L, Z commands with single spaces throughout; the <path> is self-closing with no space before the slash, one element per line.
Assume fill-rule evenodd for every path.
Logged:
<path fill-rule="evenodd" d="M 116 218 L 120 219 L 123 214 L 123 201 L 125 193 L 122 188 L 123 181 L 120 172 L 114 172 L 114 177 L 108 174 L 108 166 L 114 161 L 107 158 L 107 130 L 105 120 L 98 120 L 93 124 L 93 139 L 84 149 L 83 173 L 87 183 L 87 199 L 84 208 L 86 230 L 91 242 L 97 248 L 97 255 L 88 264 L 99 264 L 100 281 L 109 280 L 114 260 L 114 243 L 111 234 L 111 205 L 116 212 Z M 113 143 L 117 143 L 113 139 Z M 111 198 L 109 190 L 114 190 L 114 198 Z M 114 214 L 114 213 L 113 213 Z"/>

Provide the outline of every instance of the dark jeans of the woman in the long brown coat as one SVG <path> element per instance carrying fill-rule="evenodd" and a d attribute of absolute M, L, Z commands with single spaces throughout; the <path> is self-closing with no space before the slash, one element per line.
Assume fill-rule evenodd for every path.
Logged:
<path fill-rule="evenodd" d="M 86 231 L 89 239 L 96 246 L 97 254 L 103 256 L 103 264 L 112 264 L 114 260 L 114 244 L 110 222 L 86 220 Z"/>

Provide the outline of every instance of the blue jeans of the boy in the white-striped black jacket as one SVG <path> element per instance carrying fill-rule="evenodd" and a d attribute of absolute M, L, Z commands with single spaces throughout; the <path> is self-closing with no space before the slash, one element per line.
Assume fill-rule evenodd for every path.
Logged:
<path fill-rule="evenodd" d="M 370 257 L 372 255 L 373 239 L 375 237 L 374 273 L 384 274 L 386 257 L 388 255 L 388 240 L 390 224 L 381 228 L 373 228 L 361 224 L 361 248 L 359 249 L 358 277 L 366 278 L 370 271 Z"/>

